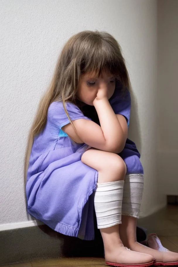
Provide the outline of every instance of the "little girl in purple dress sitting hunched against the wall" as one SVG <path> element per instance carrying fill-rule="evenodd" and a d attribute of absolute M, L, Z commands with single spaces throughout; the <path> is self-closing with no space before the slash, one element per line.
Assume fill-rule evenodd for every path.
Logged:
<path fill-rule="evenodd" d="M 108 265 L 178 265 L 178 253 L 136 241 L 143 168 L 127 139 L 130 90 L 112 35 L 83 31 L 66 42 L 29 134 L 27 210 L 57 232 L 91 240 L 95 208 Z"/>

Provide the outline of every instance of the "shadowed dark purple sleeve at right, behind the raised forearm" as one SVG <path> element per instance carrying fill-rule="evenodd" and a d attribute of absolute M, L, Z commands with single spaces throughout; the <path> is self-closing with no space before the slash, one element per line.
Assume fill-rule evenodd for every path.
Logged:
<path fill-rule="evenodd" d="M 131 96 L 127 89 L 125 93 L 121 91 L 122 84 L 117 81 L 114 94 L 109 99 L 109 103 L 115 114 L 121 114 L 126 118 L 127 126 L 129 127 L 130 110 L 131 110 Z"/>

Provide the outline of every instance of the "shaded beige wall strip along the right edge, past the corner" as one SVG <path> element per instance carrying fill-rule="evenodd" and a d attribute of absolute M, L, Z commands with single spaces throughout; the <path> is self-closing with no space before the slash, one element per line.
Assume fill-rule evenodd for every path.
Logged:
<path fill-rule="evenodd" d="M 158 0 L 158 174 L 162 192 L 178 195 L 178 1 Z"/>

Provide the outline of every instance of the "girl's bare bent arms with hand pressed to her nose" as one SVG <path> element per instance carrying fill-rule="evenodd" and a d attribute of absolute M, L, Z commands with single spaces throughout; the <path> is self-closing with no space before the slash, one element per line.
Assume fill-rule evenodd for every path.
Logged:
<path fill-rule="evenodd" d="M 93 148 L 113 153 L 120 153 L 126 143 L 127 122 L 124 116 L 115 114 L 107 98 L 107 92 L 98 90 L 97 97 L 93 101 L 97 111 L 100 125 L 86 119 L 73 120 L 73 126 L 67 124 L 62 127 L 77 143 L 86 143 Z"/>

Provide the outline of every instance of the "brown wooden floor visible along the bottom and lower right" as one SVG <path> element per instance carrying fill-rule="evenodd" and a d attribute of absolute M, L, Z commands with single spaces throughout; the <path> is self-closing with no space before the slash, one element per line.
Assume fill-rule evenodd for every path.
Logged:
<path fill-rule="evenodd" d="M 164 247 L 178 252 L 178 206 L 167 208 L 155 213 L 148 218 L 139 219 L 138 225 L 148 229 L 148 233 L 155 232 Z M 1 267 L 103 267 L 104 258 L 59 258 L 35 260 L 29 263 L 4 265 Z"/>

